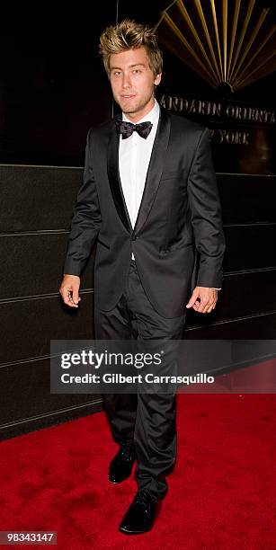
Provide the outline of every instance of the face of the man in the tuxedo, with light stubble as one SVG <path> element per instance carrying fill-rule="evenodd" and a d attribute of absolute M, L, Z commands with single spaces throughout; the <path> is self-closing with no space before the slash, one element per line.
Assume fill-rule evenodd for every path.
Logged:
<path fill-rule="evenodd" d="M 144 46 L 111 54 L 111 88 L 115 101 L 133 122 L 142 119 L 155 104 L 156 78 L 148 65 Z"/>

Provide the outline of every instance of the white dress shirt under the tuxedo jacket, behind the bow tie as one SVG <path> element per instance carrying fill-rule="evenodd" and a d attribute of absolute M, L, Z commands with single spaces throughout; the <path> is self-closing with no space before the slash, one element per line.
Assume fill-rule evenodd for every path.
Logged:
<path fill-rule="evenodd" d="M 138 217 L 138 209 L 140 207 L 145 188 L 147 169 L 156 138 L 159 114 L 160 107 L 155 99 L 153 109 L 149 111 L 145 117 L 137 120 L 136 122 L 137 124 L 140 122 L 146 122 L 147 120 L 152 122 L 153 127 L 148 134 L 147 139 L 140 137 L 136 131 L 134 131 L 133 134 L 126 139 L 122 139 L 122 136 L 120 136 L 120 182 L 132 228 L 134 228 Z M 124 113 L 122 113 L 122 120 L 131 122 L 131 120 L 129 120 Z M 135 260 L 133 253 L 131 258 L 132 260 Z M 218 290 L 220 290 L 220 288 L 218 288 Z"/>

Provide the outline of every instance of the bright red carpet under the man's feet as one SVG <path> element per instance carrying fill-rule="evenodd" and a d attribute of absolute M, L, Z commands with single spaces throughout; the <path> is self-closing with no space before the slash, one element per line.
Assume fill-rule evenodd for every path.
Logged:
<path fill-rule="evenodd" d="M 272 550 L 275 404 L 275 395 L 178 395 L 177 465 L 154 529 L 136 537 L 117 530 L 137 484 L 107 480 L 117 446 L 103 412 L 6 440 L 0 529 L 56 530 L 58 550 Z"/>

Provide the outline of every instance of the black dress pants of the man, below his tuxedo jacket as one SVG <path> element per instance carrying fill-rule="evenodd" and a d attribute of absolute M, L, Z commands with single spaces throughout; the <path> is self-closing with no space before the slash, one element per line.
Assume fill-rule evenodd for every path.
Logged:
<path fill-rule="evenodd" d="M 96 340 L 181 340 L 184 322 L 185 315 L 165 318 L 156 312 L 133 260 L 118 304 L 108 312 L 94 307 Z M 102 399 L 113 439 L 134 442 L 138 489 L 147 488 L 163 499 L 168 490 L 165 475 L 176 458 L 175 392 L 103 394 Z"/>

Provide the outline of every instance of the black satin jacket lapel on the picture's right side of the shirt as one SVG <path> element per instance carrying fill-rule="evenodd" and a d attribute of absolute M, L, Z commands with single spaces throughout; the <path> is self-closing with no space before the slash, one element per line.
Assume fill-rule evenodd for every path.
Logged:
<path fill-rule="evenodd" d="M 154 203 L 158 185 L 162 176 L 165 163 L 165 155 L 169 143 L 171 120 L 165 109 L 160 107 L 160 117 L 156 130 L 156 138 L 147 170 L 147 178 L 138 217 L 134 227 L 137 235 L 145 224 L 147 216 Z"/>

